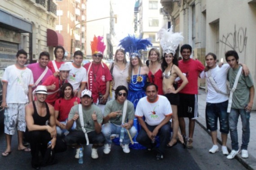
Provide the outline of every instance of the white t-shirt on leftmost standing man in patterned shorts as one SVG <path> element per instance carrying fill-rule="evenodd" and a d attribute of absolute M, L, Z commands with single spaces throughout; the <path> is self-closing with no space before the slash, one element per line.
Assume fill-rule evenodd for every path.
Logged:
<path fill-rule="evenodd" d="M 28 96 L 23 90 L 21 80 L 18 77 L 21 75 L 24 86 L 34 84 L 32 71 L 28 68 L 18 69 L 15 64 L 8 66 L 2 78 L 2 81 L 7 84 L 6 103 L 27 103 Z"/>

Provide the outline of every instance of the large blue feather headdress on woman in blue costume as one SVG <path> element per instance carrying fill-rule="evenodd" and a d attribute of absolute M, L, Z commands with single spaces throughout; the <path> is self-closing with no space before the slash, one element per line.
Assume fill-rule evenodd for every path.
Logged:
<path fill-rule="evenodd" d="M 146 50 L 147 47 L 152 46 L 149 40 L 136 38 L 134 35 L 128 35 L 120 40 L 119 46 L 124 48 L 125 52 L 128 52 L 130 57 L 141 57 L 140 50 Z"/>

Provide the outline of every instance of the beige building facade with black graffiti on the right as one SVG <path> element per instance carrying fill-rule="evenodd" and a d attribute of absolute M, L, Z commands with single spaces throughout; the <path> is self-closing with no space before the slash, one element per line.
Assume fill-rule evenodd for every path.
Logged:
<path fill-rule="evenodd" d="M 256 80 L 256 0 L 160 0 L 170 14 L 183 43 L 194 49 L 194 57 L 205 63 L 213 52 L 225 61 L 225 52 L 235 50 Z M 203 84 L 201 84 L 203 85 Z M 254 102 L 253 109 L 256 109 Z"/>

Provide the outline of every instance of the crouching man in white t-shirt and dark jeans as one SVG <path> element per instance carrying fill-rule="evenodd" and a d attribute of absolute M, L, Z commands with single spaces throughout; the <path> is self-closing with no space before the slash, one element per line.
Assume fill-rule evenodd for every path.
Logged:
<path fill-rule="evenodd" d="M 141 98 L 137 104 L 135 116 L 141 124 L 141 131 L 136 140 L 151 150 L 156 146 L 155 138 L 159 137 L 159 147 L 156 159 L 163 159 L 164 148 L 170 140 L 170 127 L 172 108 L 168 99 L 158 95 L 157 85 L 150 83 L 146 85 L 146 97 Z M 143 120 L 145 117 L 145 122 Z"/>

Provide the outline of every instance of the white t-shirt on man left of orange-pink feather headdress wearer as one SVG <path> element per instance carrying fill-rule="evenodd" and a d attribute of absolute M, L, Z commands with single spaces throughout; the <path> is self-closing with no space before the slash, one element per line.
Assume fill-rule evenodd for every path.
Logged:
<path fill-rule="evenodd" d="M 71 71 L 69 72 L 69 76 L 67 77 L 67 81 L 73 86 L 74 90 L 79 90 L 79 86 L 81 83 L 87 82 L 87 72 L 86 69 L 82 66 L 77 68 L 75 64 L 68 62 Z"/>

